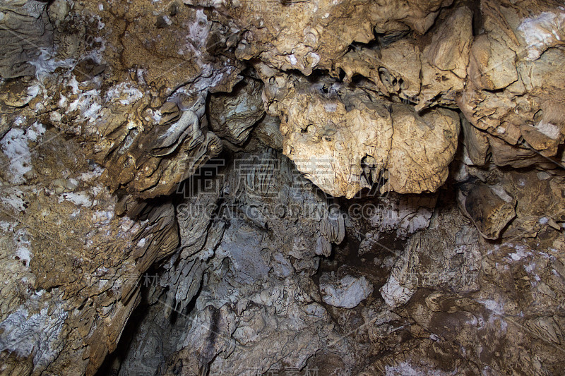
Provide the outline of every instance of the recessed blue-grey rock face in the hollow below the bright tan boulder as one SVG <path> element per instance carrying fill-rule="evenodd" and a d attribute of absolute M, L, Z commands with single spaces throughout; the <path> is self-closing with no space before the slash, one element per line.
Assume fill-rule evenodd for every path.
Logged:
<path fill-rule="evenodd" d="M 331 217 L 323 196 L 282 155 L 239 154 L 232 162 L 220 178 L 195 176 L 213 181 L 213 188 L 193 196 L 185 190 L 177 206 L 185 229 L 182 252 L 165 266 L 150 305 L 158 313 L 152 321 L 165 331 L 172 330 L 165 321 L 172 307 L 182 315 L 184 327 L 176 323 L 177 334 L 162 339 L 169 349 L 167 363 L 149 358 L 140 364 L 141 354 L 153 348 L 153 342 L 140 338 L 119 375 L 153 373 L 159 365 L 165 375 L 181 368 L 199 375 L 208 367 L 213 374 L 266 372 L 278 362 L 302 368 L 334 339 L 309 276 L 319 255 L 328 255 L 331 243 L 343 240 L 343 218 Z M 289 211 L 280 212 L 284 208 Z M 199 289 L 196 310 L 184 317 Z M 147 325 L 152 324 L 142 323 Z M 317 330 L 327 337 L 320 338 Z"/>

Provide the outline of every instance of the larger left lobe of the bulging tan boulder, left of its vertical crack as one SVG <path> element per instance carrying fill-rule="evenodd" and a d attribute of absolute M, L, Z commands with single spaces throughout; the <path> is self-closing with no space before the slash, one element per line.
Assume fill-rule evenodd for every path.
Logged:
<path fill-rule="evenodd" d="M 387 164 L 391 114 L 383 103 L 371 103 L 362 94 L 347 97 L 346 109 L 337 97 L 309 92 L 309 85 L 299 90 L 278 105 L 283 152 L 316 186 L 333 196 L 351 198 L 369 186 L 362 176 L 366 156 L 375 178 Z"/>

